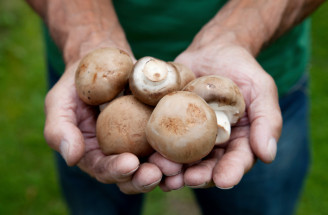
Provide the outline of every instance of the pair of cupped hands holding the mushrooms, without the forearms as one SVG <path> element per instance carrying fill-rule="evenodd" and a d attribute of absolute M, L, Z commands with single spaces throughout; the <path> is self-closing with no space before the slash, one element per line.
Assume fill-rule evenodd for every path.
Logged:
<path fill-rule="evenodd" d="M 100 47 L 117 47 L 113 41 L 84 47 L 84 53 Z M 81 56 L 83 56 L 81 54 Z M 276 85 L 254 56 L 242 46 L 215 40 L 194 39 L 175 59 L 189 67 L 196 77 L 222 75 L 240 88 L 246 113 L 232 127 L 225 147 L 214 147 L 199 162 L 182 165 L 154 152 L 145 162 L 131 153 L 105 156 L 96 138 L 98 111 L 78 97 L 74 76 L 79 60 L 67 63 L 66 70 L 45 100 L 44 135 L 49 146 L 60 152 L 69 166 L 80 169 L 102 183 L 115 183 L 127 194 L 145 193 L 159 186 L 163 191 L 184 186 L 229 189 L 237 185 L 257 159 L 274 160 L 280 137 L 282 118 Z"/>

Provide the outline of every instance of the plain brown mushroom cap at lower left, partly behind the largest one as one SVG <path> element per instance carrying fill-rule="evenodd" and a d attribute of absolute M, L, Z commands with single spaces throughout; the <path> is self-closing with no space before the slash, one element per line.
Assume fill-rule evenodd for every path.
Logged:
<path fill-rule="evenodd" d="M 105 155 L 130 152 L 139 157 L 150 155 L 145 127 L 152 107 L 141 103 L 133 95 L 111 101 L 97 119 L 97 139 Z"/>

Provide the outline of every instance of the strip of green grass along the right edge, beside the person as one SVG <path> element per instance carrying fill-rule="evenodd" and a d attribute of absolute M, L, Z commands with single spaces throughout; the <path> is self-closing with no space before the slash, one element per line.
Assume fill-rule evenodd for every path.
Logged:
<path fill-rule="evenodd" d="M 328 211 L 325 189 L 328 174 L 328 4 L 313 16 L 313 57 L 311 63 L 312 167 L 299 205 L 298 215 L 324 215 Z M 322 111 L 323 110 L 323 111 Z"/>

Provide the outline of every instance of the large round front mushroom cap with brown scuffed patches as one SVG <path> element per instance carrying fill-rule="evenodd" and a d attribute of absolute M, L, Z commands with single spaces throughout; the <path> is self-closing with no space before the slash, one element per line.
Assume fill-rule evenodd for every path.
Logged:
<path fill-rule="evenodd" d="M 208 155 L 216 135 L 214 111 L 201 97 L 185 91 L 164 96 L 146 126 L 150 145 L 177 163 L 192 163 Z"/>

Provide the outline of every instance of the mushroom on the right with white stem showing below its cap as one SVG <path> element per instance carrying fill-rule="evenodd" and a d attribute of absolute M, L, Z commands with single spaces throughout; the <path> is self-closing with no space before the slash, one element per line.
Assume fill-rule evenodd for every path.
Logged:
<path fill-rule="evenodd" d="M 245 112 L 245 101 L 237 85 L 228 78 L 210 75 L 191 81 L 183 90 L 196 93 L 211 106 L 218 125 L 216 145 L 227 142 L 231 126 L 235 125 Z"/>

